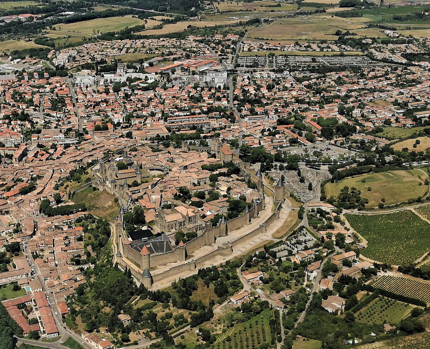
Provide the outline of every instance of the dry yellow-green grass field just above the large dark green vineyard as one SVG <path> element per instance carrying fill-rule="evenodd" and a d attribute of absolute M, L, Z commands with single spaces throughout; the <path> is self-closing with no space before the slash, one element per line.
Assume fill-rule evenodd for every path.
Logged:
<path fill-rule="evenodd" d="M 343 187 L 355 187 L 369 201 L 366 207 L 377 207 L 382 198 L 388 206 L 425 195 L 428 191 L 428 185 L 424 184 L 426 179 L 427 174 L 419 169 L 396 170 L 345 178 L 337 183 L 327 183 L 324 189 L 327 197 L 337 197 Z"/>

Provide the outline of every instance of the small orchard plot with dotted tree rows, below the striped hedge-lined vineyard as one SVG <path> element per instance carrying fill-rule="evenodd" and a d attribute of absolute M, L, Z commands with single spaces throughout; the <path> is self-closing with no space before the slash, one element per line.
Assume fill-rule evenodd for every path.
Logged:
<path fill-rule="evenodd" d="M 378 325 L 384 324 L 384 321 L 391 325 L 398 324 L 412 309 L 407 303 L 380 296 L 356 314 L 356 321 Z"/>

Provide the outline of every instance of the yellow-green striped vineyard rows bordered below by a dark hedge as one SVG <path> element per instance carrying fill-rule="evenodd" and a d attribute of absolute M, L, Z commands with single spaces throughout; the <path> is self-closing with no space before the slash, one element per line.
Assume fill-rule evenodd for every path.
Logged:
<path fill-rule="evenodd" d="M 403 276 L 382 276 L 372 286 L 405 297 L 419 299 L 430 305 L 430 281 Z"/>

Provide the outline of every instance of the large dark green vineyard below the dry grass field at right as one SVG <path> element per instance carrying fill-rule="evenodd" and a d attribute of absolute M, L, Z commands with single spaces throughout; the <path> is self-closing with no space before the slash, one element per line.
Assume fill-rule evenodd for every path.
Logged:
<path fill-rule="evenodd" d="M 346 215 L 367 240 L 364 256 L 392 265 L 412 263 L 430 248 L 430 225 L 409 210 L 382 215 Z"/>

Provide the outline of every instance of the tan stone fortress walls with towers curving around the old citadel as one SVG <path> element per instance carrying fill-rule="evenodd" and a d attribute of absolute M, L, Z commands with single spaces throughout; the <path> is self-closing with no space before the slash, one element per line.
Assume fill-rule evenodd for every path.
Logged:
<path fill-rule="evenodd" d="M 249 163 L 239 161 L 239 165 L 244 173 L 250 175 Z M 118 197 L 123 207 L 129 207 L 131 205 L 131 196 L 125 183 L 111 183 L 107 181 L 104 176 L 101 176 L 103 173 L 100 172 L 102 172 L 102 169 L 100 171 L 92 171 L 93 180 L 91 183 L 85 184 L 85 186 L 89 187 L 93 185 L 99 190 L 106 190 Z M 257 177 L 257 179 L 259 181 L 259 183 L 257 183 L 259 190 L 264 192 L 261 173 L 260 178 Z M 128 178 L 126 182 L 128 183 L 131 180 L 132 178 Z M 196 238 L 188 241 L 184 246 L 173 246 L 172 251 L 147 255 L 140 253 L 130 245 L 130 241 L 126 238 L 126 233 L 124 231 L 124 212 L 120 211 L 115 223 L 117 238 L 121 237 L 118 239 L 121 246 L 118 246 L 116 261 L 120 267 L 124 269 L 127 267 L 130 269 L 136 280 L 150 288 L 154 284 L 160 283 L 167 278 L 175 277 L 175 275 L 195 272 L 210 259 L 214 259 L 218 256 L 232 255 L 233 251 L 247 240 L 266 234 L 268 226 L 279 219 L 279 211 L 282 208 L 282 202 L 284 200 L 284 184 L 278 182 L 274 187 L 274 191 L 270 188 L 267 189 L 273 193 L 275 203 L 278 204 L 276 211 L 273 212 L 265 222 L 260 224 L 259 227 L 246 232 L 246 234 L 241 235 L 234 241 L 221 244 L 220 246 L 215 245 L 217 238 L 225 237 L 228 235 L 228 232 L 232 232 L 250 224 L 251 219 L 257 217 L 259 213 L 264 210 L 264 195 L 260 200 L 255 201 L 253 206 L 247 209 L 241 216 L 228 221 L 220 221 L 217 226 L 210 226 L 210 224 L 207 224 L 203 231 L 198 232 Z M 194 253 L 205 246 L 208 247 L 208 251 L 194 259 Z M 212 249 L 210 249 L 210 247 L 212 247 Z M 132 265 L 130 265 L 130 263 L 132 263 Z M 174 265 L 168 266 L 169 264 Z M 166 268 L 166 266 L 168 266 L 168 268 Z"/>

